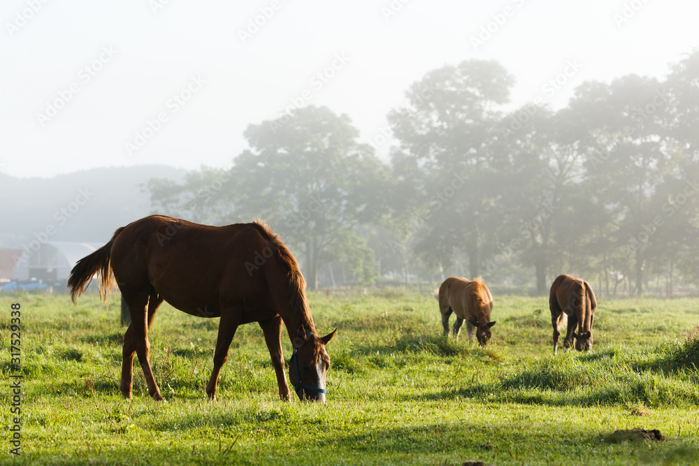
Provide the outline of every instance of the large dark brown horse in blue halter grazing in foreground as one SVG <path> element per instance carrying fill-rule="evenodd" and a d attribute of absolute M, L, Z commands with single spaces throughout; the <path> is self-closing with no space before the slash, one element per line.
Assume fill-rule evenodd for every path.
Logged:
<path fill-rule="evenodd" d="M 325 401 L 325 375 L 330 358 L 325 345 L 337 329 L 316 334 L 305 296 L 305 281 L 296 259 L 262 221 L 206 226 L 153 215 L 119 228 L 103 247 L 86 256 L 71 271 L 68 286 L 73 303 L 94 274 L 106 300 L 114 279 L 129 305 L 131 324 L 124 335 L 120 391 L 131 398 L 134 353 L 143 369 L 148 393 L 162 400 L 150 367 L 148 329 L 166 300 L 200 317 L 221 317 L 214 367 L 206 384 L 216 398 L 221 366 L 238 326 L 259 322 L 277 375 L 279 396 L 289 398 L 282 355 L 282 321 L 294 353 L 289 379 L 298 398 Z"/>

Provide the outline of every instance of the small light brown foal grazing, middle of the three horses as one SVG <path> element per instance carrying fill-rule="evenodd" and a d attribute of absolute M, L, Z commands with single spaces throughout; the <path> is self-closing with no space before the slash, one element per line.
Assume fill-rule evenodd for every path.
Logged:
<path fill-rule="evenodd" d="M 476 327 L 476 338 L 482 347 L 485 346 L 490 340 L 490 328 L 495 321 L 490 321 L 493 296 L 482 280 L 449 277 L 439 287 L 438 299 L 445 337 L 449 335 L 449 316 L 455 312 L 454 336 L 459 338 L 461 325 L 466 321 L 468 341 L 473 342 L 473 328 Z"/>

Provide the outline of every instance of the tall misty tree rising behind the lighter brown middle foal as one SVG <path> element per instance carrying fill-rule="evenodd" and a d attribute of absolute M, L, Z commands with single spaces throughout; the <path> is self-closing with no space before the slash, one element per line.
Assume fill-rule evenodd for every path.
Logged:
<path fill-rule="evenodd" d="M 491 141 L 513 82 L 494 61 L 467 60 L 427 73 L 406 92 L 408 105 L 389 113 L 400 141 L 394 167 L 413 175 L 421 201 L 405 205 L 403 221 L 410 233 L 417 226 L 417 249 L 432 265 L 452 265 L 463 251 L 470 275 L 480 271 L 490 238 Z"/>

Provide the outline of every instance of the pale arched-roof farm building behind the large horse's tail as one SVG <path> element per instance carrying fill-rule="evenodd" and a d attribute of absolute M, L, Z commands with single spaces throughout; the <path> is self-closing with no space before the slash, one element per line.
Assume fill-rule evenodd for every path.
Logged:
<path fill-rule="evenodd" d="M 96 242 L 44 242 L 36 251 L 25 254 L 29 256 L 28 260 L 22 258 L 17 261 L 12 278 L 19 281 L 36 278 L 45 283 L 65 284 L 73 265 L 102 246 L 103 243 Z"/>

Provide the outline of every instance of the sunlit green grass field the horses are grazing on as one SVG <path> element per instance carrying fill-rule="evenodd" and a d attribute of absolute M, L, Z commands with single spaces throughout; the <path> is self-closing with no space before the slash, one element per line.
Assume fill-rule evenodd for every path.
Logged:
<path fill-rule="evenodd" d="M 163 305 L 150 331 L 156 403 L 138 364 L 119 390 L 118 295 L 0 296 L 3 451 L 17 465 L 699 464 L 699 300 L 599 299 L 593 350 L 552 354 L 547 298 L 495 296 L 481 349 L 441 336 L 427 293 L 311 294 L 332 367 L 325 405 L 278 400 L 257 324 L 238 328 L 206 399 L 218 319 Z M 21 456 L 10 454 L 10 305 L 20 303 Z M 452 322 L 454 317 L 452 316 Z M 679 335 L 679 336 L 678 336 Z M 562 337 L 561 337 L 562 340 Z M 291 344 L 282 341 L 286 359 Z M 663 442 L 612 443 L 617 429 Z"/>

